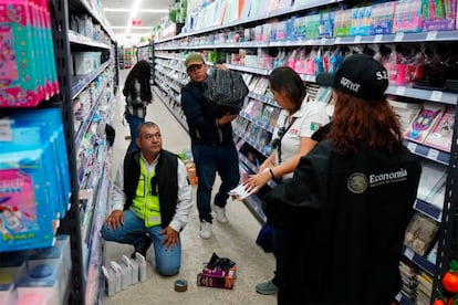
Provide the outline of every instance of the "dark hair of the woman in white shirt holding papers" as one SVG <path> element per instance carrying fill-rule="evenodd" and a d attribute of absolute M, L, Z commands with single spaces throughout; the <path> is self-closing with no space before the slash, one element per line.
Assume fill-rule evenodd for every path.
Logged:
<path fill-rule="evenodd" d="M 295 104 L 293 112 L 301 107 L 306 95 L 304 82 L 298 73 L 289 66 L 275 67 L 269 75 L 269 85 L 272 90 L 281 92 Z"/>

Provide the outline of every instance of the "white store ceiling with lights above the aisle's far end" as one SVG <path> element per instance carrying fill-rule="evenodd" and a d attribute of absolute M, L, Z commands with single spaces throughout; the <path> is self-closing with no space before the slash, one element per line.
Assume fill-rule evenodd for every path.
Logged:
<path fill-rule="evenodd" d="M 168 15 L 168 12 L 149 12 L 148 10 L 167 10 L 174 0 L 101 0 L 104 9 L 125 9 L 121 12 L 104 10 L 105 18 L 110 22 L 113 33 L 118 41 L 124 41 L 126 35 L 131 36 L 149 36 L 150 28 L 160 24 L 160 19 Z M 133 8 L 138 6 L 138 10 L 133 15 Z M 140 27 L 132 27 L 126 32 L 126 27 L 132 24 L 132 17 L 142 19 Z M 118 28 L 122 27 L 122 28 Z"/>

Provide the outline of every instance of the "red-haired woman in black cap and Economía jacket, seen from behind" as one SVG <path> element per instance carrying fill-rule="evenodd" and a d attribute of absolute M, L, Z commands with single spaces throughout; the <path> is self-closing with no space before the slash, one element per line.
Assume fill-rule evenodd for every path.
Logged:
<path fill-rule="evenodd" d="M 264 198 L 268 222 L 292 233 L 279 304 L 391 304 L 421 172 L 384 93 L 385 67 L 347 57 L 316 82 L 333 87 L 329 133 Z"/>

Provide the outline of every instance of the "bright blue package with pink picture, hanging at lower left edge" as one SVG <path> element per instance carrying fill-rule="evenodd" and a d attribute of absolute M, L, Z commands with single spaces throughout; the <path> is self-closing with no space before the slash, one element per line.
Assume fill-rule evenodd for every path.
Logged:
<path fill-rule="evenodd" d="M 50 246 L 54 211 L 46 191 L 43 151 L 0 154 L 0 251 Z"/>

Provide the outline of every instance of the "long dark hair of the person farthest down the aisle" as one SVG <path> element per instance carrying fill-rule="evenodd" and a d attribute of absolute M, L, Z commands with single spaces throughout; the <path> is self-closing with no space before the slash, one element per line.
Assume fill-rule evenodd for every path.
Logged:
<path fill-rule="evenodd" d="M 149 84 L 149 78 L 152 77 L 152 65 L 147 61 L 137 62 L 131 70 L 127 75 L 126 82 L 124 83 L 123 94 L 127 96 L 131 86 L 135 80 L 140 84 L 140 97 L 142 101 L 150 101 L 152 88 Z"/>

